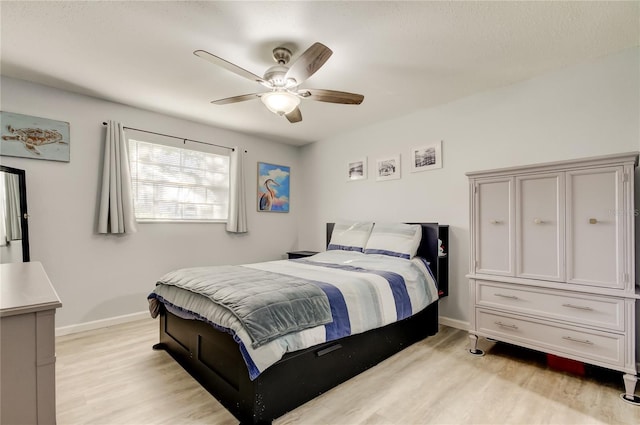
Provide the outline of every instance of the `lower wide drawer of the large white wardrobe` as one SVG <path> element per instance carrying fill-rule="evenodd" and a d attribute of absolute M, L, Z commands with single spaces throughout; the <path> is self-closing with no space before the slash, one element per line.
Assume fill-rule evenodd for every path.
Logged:
<path fill-rule="evenodd" d="M 476 323 L 480 334 L 501 341 L 596 364 L 624 366 L 624 335 L 555 326 L 482 309 L 476 310 Z"/>

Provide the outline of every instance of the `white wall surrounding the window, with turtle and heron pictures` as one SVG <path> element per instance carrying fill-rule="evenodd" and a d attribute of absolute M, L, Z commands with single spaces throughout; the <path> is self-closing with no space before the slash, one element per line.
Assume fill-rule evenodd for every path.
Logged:
<path fill-rule="evenodd" d="M 145 311 L 146 296 L 165 272 L 195 265 L 239 264 L 280 259 L 296 247 L 297 200 L 291 212 L 256 212 L 257 161 L 300 168 L 299 149 L 171 118 L 87 96 L 2 78 L 1 109 L 67 121 L 69 163 L 0 157 L 26 170 L 32 261 L 40 261 L 63 307 L 56 325 L 65 327 Z M 105 120 L 248 150 L 246 183 L 249 234 L 226 233 L 224 224 L 139 224 L 130 236 L 96 234 Z"/>

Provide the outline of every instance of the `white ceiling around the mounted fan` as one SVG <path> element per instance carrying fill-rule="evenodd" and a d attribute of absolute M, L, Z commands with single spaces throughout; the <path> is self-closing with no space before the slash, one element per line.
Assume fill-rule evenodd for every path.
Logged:
<path fill-rule="evenodd" d="M 640 45 L 640 2 L 2 1 L 2 75 L 293 145 L 513 84 Z M 360 93 L 362 105 L 303 100 L 290 124 L 259 100 L 285 45 L 319 41 L 329 61 L 301 87 Z M 104 117 L 109 119 L 110 117 Z M 125 123 L 134 126 L 135 123 Z"/>

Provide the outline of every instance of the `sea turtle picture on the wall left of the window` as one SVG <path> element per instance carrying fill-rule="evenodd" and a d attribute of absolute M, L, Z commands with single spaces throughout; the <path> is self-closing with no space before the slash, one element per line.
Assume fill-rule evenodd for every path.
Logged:
<path fill-rule="evenodd" d="M 69 162 L 69 123 L 0 112 L 0 153 Z"/>

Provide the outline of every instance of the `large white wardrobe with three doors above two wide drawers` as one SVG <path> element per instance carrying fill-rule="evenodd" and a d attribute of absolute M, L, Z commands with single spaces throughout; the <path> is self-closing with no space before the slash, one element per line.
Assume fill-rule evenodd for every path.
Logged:
<path fill-rule="evenodd" d="M 488 337 L 637 382 L 638 153 L 467 173 L 470 351 Z"/>

